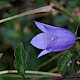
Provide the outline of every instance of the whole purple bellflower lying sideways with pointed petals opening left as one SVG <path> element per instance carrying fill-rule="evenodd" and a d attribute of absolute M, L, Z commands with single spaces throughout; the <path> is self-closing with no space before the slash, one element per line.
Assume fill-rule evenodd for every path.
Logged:
<path fill-rule="evenodd" d="M 30 43 L 36 48 L 43 50 L 38 55 L 38 58 L 50 52 L 67 50 L 76 42 L 75 35 L 67 29 L 54 27 L 37 21 L 35 21 L 35 24 L 42 33 L 36 35 Z"/>

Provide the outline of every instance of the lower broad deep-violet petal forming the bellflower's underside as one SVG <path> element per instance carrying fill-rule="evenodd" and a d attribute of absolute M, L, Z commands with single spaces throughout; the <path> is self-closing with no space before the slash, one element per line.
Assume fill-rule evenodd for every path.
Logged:
<path fill-rule="evenodd" d="M 74 45 L 74 43 L 75 40 L 72 39 L 56 38 L 48 44 L 46 50 L 51 52 L 60 52 L 71 48 Z"/>

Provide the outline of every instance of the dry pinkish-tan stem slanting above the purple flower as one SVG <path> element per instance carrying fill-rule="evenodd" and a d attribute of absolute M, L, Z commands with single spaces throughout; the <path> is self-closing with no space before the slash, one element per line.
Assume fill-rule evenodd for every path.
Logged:
<path fill-rule="evenodd" d="M 25 11 L 21 14 L 14 15 L 12 17 L 4 18 L 4 19 L 0 20 L 0 23 L 3 23 L 3 22 L 8 21 L 8 20 L 15 19 L 15 18 L 19 18 L 19 17 L 22 17 L 22 16 L 30 15 L 30 14 L 35 14 L 35 13 L 40 13 L 40 12 L 50 12 L 51 10 L 52 10 L 52 6 L 50 6 L 50 5 L 49 6 L 44 6 L 44 7 L 41 7 L 41 8 Z"/>

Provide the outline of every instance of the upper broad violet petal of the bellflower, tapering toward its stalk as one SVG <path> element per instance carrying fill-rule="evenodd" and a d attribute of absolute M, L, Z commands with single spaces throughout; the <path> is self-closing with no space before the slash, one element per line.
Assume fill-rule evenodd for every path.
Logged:
<path fill-rule="evenodd" d="M 73 40 L 76 40 L 76 37 L 75 35 L 67 30 L 67 29 L 64 29 L 64 28 L 58 28 L 58 29 L 51 29 L 49 27 L 46 27 L 45 26 L 45 29 L 51 34 L 53 35 L 54 37 L 60 37 L 60 38 L 66 38 L 66 39 L 73 39 Z"/>

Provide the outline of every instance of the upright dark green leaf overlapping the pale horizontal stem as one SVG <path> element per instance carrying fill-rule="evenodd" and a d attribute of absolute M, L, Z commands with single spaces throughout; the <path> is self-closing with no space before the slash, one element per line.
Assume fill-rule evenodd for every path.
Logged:
<path fill-rule="evenodd" d="M 22 43 L 20 43 L 15 51 L 15 61 L 14 61 L 14 66 L 17 69 L 18 73 L 21 74 L 22 76 L 25 76 L 25 70 L 26 70 L 26 52 L 24 50 L 24 46 Z"/>

